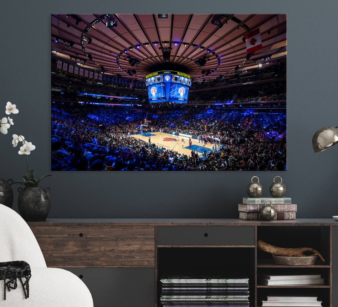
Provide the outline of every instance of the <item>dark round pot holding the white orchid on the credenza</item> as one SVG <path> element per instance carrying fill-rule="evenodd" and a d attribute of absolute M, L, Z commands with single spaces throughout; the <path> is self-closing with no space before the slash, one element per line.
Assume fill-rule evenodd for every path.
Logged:
<path fill-rule="evenodd" d="M 18 208 L 25 221 L 45 221 L 50 210 L 50 188 L 18 188 Z"/>

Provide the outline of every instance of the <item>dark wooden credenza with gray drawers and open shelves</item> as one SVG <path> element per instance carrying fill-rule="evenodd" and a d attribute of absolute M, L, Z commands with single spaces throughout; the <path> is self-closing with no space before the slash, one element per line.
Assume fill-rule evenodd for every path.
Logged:
<path fill-rule="evenodd" d="M 338 222 L 332 219 L 244 221 L 239 219 L 48 219 L 29 222 L 47 266 L 79 276 L 95 307 L 161 306 L 162 274 L 241 268 L 250 281 L 250 306 L 269 291 L 317 293 L 324 307 L 338 307 Z M 325 262 L 282 266 L 257 249 L 262 239 L 283 247 L 313 247 Z M 261 271 L 321 274 L 324 285 L 266 286 Z"/>

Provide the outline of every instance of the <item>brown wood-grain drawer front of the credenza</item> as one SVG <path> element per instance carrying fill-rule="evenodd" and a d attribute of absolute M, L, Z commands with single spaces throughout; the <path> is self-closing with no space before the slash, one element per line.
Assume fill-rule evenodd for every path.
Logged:
<path fill-rule="evenodd" d="M 32 226 L 47 266 L 154 267 L 155 228 Z"/>

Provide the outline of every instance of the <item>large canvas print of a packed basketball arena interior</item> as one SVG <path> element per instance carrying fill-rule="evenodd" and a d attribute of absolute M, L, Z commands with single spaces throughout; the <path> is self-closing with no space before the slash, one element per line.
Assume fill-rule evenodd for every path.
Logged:
<path fill-rule="evenodd" d="M 52 15 L 52 170 L 287 170 L 286 22 Z"/>

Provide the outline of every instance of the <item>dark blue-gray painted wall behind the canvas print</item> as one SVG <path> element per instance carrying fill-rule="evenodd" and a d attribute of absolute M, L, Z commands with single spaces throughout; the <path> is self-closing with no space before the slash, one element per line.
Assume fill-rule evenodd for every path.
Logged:
<path fill-rule="evenodd" d="M 53 172 L 51 218 L 238 217 L 237 203 L 251 176 L 268 195 L 276 175 L 299 218 L 338 215 L 338 146 L 315 154 L 311 139 L 338 124 L 335 1 L 4 1 L 0 15 L 0 109 L 20 113 L 12 131 L 32 136 L 30 168 L 50 172 L 51 13 L 287 13 L 287 172 Z M 10 135 L 12 134 L 10 133 Z M 25 157 L 0 135 L 0 176 L 19 180 Z M 17 192 L 14 209 L 17 210 Z"/>

